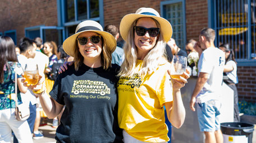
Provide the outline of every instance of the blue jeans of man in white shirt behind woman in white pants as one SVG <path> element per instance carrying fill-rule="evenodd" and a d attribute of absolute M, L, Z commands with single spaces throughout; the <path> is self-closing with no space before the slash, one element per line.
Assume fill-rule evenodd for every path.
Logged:
<path fill-rule="evenodd" d="M 36 116 L 36 104 L 32 105 L 31 102 L 29 103 L 29 109 L 30 109 L 30 116 L 27 119 L 28 123 L 29 123 L 29 128 L 31 133 L 34 130 L 34 124 L 35 124 L 35 116 Z M 18 140 L 16 138 L 16 136 L 13 136 L 13 143 L 18 143 Z"/>

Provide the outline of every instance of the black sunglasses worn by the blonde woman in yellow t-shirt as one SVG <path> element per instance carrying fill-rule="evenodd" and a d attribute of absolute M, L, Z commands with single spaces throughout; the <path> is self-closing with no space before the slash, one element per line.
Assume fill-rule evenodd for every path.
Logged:
<path fill-rule="evenodd" d="M 145 28 L 141 26 L 134 26 L 134 28 L 138 36 L 144 36 L 148 31 L 150 37 L 156 37 L 160 32 L 160 28 Z"/>

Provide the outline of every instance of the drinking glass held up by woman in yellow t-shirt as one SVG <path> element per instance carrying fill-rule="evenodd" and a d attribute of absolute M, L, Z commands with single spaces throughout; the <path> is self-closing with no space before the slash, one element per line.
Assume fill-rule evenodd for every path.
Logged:
<path fill-rule="evenodd" d="M 171 78 L 180 79 L 186 72 L 187 58 L 185 56 L 173 56 L 171 63 Z"/>

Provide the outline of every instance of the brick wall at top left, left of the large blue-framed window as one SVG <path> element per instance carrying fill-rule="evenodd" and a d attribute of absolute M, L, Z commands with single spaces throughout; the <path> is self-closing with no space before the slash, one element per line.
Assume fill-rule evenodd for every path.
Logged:
<path fill-rule="evenodd" d="M 1 1 L 0 13 L 0 32 L 16 30 L 17 42 L 25 36 L 26 27 L 57 26 L 56 0 Z"/>

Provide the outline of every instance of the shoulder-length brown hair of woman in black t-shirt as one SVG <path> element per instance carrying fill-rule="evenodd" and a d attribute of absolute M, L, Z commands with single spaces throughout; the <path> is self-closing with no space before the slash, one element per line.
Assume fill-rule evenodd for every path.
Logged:
<path fill-rule="evenodd" d="M 96 32 L 95 32 L 96 33 Z M 96 33 L 98 34 L 98 33 Z M 100 53 L 100 62 L 103 65 L 103 69 L 108 69 L 109 67 L 111 67 L 111 60 L 112 60 L 112 56 L 111 56 L 111 50 L 109 50 L 109 48 L 106 45 L 106 40 L 104 39 L 104 37 L 102 36 L 102 38 L 100 38 L 100 40 L 102 40 L 102 53 Z M 84 57 L 81 55 L 80 51 L 79 51 L 79 47 L 78 47 L 78 43 L 76 40 L 76 47 L 75 47 L 75 56 L 74 56 L 74 63 L 75 63 L 75 70 L 77 71 L 79 69 L 79 66 L 81 66 L 84 62 Z"/>

